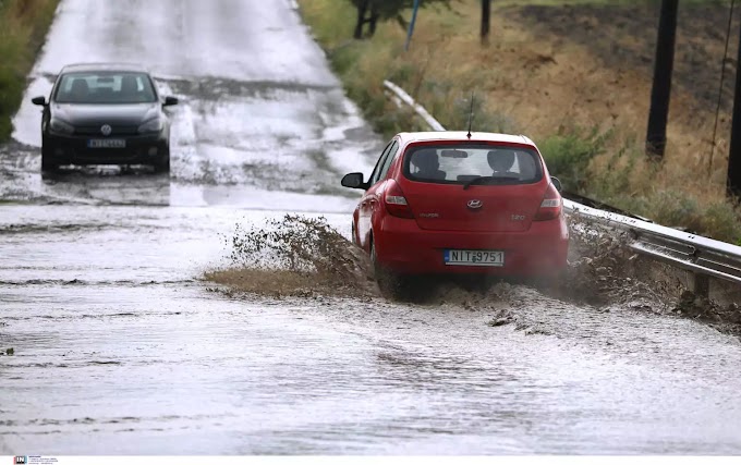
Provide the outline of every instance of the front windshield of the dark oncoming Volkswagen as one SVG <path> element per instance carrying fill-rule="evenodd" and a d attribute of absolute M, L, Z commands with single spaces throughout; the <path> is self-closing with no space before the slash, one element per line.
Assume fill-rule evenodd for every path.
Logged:
<path fill-rule="evenodd" d="M 66 73 L 61 76 L 58 103 L 146 103 L 157 101 L 151 79 L 137 72 Z"/>

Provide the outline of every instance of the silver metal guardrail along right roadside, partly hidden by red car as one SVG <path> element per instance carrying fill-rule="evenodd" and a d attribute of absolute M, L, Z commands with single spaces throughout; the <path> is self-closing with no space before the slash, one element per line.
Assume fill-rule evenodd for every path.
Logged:
<path fill-rule="evenodd" d="M 396 84 L 384 81 L 393 97 L 409 105 L 433 131 L 446 131 L 420 103 Z M 628 246 L 639 254 L 694 273 L 695 292 L 707 294 L 707 278 L 741 284 L 741 247 L 648 221 L 563 199 L 571 217 L 627 233 Z"/>

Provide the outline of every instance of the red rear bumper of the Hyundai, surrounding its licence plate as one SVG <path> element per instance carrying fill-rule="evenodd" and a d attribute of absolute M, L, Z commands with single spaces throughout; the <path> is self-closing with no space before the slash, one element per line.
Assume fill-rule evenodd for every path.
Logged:
<path fill-rule="evenodd" d="M 413 219 L 391 216 L 385 216 L 379 227 L 374 229 L 378 261 L 400 273 L 538 277 L 556 274 L 567 265 L 569 230 L 562 215 L 514 233 L 422 230 Z M 505 265 L 446 265 L 445 249 L 502 250 Z"/>

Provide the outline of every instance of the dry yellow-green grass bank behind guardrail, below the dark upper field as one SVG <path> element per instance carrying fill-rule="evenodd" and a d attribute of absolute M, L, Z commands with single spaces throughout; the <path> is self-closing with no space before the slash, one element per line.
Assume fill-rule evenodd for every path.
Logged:
<path fill-rule="evenodd" d="M 697 121 L 712 121 L 710 109 L 673 118 L 667 156 L 654 161 L 644 155 L 642 140 L 649 76 L 594 65 L 600 60 L 588 48 L 536 35 L 511 24 L 503 13 L 523 5 L 567 3 L 608 2 L 493 2 L 488 46 L 479 44 L 479 2 L 461 0 L 452 12 L 426 8 L 404 51 L 405 32 L 394 22 L 379 24 L 370 39 L 352 40 L 356 13 L 350 2 L 299 0 L 304 21 L 348 96 L 384 136 L 426 130 L 409 109 L 385 95 L 384 79 L 403 87 L 449 130 L 466 127 L 473 90 L 474 131 L 529 135 L 567 191 L 660 224 L 741 243 L 741 210 L 726 197 L 724 173 L 706 169 L 696 157 L 706 149 L 706 140 L 696 135 Z M 692 3 L 722 5 L 715 0 Z M 588 70 L 584 63 L 590 63 Z M 678 91 L 672 114 L 690 113 L 694 103 Z"/>

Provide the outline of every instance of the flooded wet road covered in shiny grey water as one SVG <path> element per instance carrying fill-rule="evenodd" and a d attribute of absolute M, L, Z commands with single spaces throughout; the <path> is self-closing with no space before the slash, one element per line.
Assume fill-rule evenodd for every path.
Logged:
<path fill-rule="evenodd" d="M 340 175 L 384 144 L 289 2 L 155 3 L 63 0 L 28 97 L 66 62 L 144 61 L 182 102 L 170 176 L 42 180 L 31 106 L 0 149 L 0 454 L 741 453 L 741 344 L 690 320 L 507 284 L 210 290 L 238 223 L 347 234 Z"/>

